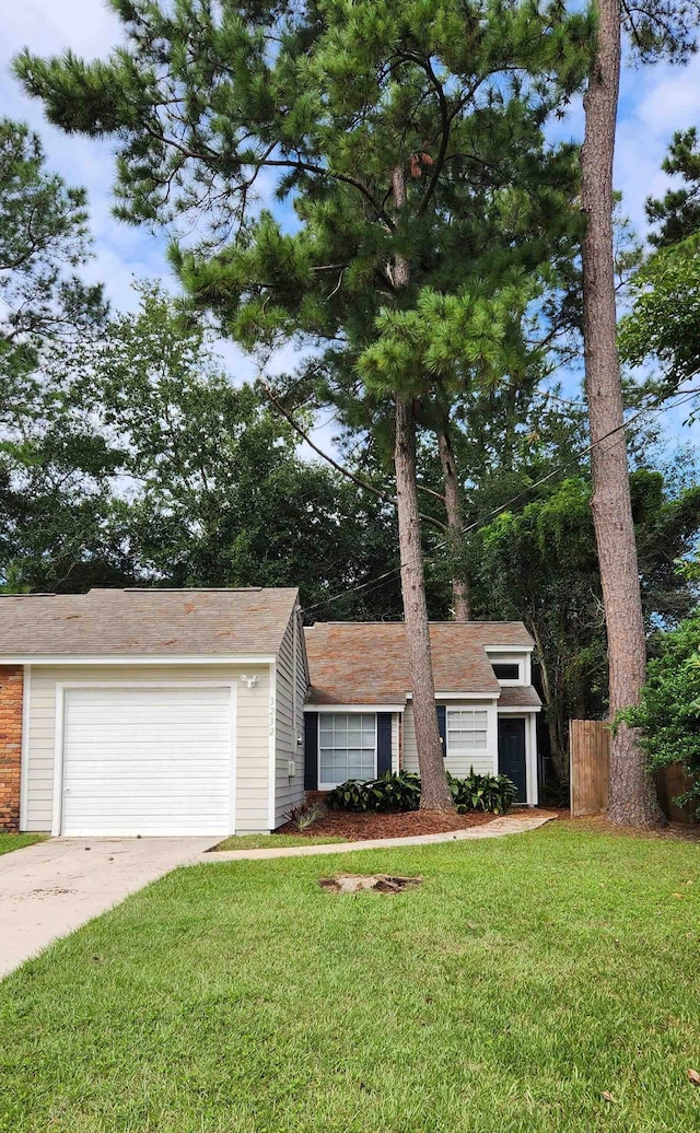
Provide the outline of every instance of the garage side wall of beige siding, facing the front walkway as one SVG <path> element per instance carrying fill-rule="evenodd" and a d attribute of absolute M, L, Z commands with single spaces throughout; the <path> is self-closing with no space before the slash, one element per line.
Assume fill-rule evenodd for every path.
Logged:
<path fill-rule="evenodd" d="M 282 639 L 276 665 L 273 828 L 281 826 L 285 820 L 284 815 L 288 808 L 304 798 L 304 700 L 306 698 L 306 668 L 304 664 L 304 633 L 298 621 L 294 630 L 294 620 L 296 615 L 292 615 Z M 294 633 L 297 639 L 296 651 Z M 297 743 L 298 736 L 301 736 L 301 743 Z M 289 774 L 290 760 L 293 760 L 296 764 L 294 775 Z"/>

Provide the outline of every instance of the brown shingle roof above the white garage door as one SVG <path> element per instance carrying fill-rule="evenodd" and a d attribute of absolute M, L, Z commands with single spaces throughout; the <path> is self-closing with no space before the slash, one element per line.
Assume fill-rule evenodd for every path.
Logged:
<path fill-rule="evenodd" d="M 276 654 L 297 596 L 259 587 L 5 595 L 0 657 Z"/>

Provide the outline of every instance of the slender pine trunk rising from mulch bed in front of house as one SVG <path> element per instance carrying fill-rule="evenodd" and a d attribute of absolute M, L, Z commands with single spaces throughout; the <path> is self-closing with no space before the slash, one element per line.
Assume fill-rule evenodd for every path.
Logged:
<path fill-rule="evenodd" d="M 420 809 L 452 810 L 452 794 L 445 775 L 445 760 L 437 729 L 435 685 L 430 659 L 430 634 L 426 603 L 418 484 L 416 476 L 416 418 L 410 399 L 396 397 L 396 502 L 401 591 L 408 644 L 416 746 L 420 768 Z"/>

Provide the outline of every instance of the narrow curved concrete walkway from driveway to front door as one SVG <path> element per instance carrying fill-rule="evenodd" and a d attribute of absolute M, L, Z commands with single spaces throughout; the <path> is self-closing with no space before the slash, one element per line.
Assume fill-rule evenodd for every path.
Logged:
<path fill-rule="evenodd" d="M 536 830 L 557 816 L 546 810 L 531 815 L 506 815 L 494 818 L 485 826 L 471 826 L 466 830 L 447 830 L 444 834 L 416 834 L 409 838 L 372 838 L 366 842 L 331 842 L 327 845 L 280 846 L 276 850 L 220 850 L 202 853 L 193 864 L 221 861 L 259 861 L 266 858 L 310 858 L 314 854 L 353 853 L 356 850 L 399 850 L 403 846 L 427 846 L 436 842 L 463 842 L 476 838 L 502 838 L 506 834 L 524 834 Z"/>

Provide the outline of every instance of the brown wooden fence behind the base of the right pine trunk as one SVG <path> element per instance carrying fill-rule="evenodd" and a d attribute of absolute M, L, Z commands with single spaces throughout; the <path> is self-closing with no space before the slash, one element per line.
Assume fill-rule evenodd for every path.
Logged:
<path fill-rule="evenodd" d="M 569 722 L 571 817 L 599 815 L 607 809 L 609 729 L 604 719 Z M 674 799 L 688 791 L 691 780 L 682 764 L 664 767 L 656 776 L 659 804 L 669 823 L 694 823 L 695 808 L 676 807 Z"/>

